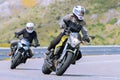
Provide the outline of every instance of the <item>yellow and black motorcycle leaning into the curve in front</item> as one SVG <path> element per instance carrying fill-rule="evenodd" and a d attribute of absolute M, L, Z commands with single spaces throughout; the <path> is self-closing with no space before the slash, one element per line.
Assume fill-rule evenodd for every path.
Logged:
<path fill-rule="evenodd" d="M 82 38 L 78 32 L 71 32 L 69 29 L 66 31 L 61 41 L 56 45 L 55 49 L 51 49 L 49 55 L 44 59 L 42 66 L 42 72 L 44 74 L 50 74 L 52 71 L 56 75 L 61 76 L 68 69 L 68 67 L 74 63 L 80 55 L 80 43 Z M 54 57 L 51 58 L 51 55 Z"/>

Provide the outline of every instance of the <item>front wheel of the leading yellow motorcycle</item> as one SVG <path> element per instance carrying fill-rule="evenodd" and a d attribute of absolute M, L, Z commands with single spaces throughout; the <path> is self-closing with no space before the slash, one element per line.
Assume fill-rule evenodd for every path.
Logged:
<path fill-rule="evenodd" d="M 62 62 L 59 62 L 56 67 L 56 75 L 61 76 L 70 66 L 73 58 L 73 54 L 71 52 L 67 52 L 67 55 L 64 57 Z"/>

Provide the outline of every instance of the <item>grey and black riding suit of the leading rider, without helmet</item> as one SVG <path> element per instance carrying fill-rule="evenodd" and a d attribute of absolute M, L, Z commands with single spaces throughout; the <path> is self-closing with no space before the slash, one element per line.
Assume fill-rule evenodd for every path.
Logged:
<path fill-rule="evenodd" d="M 87 42 L 90 42 L 86 22 L 84 20 L 78 20 L 74 14 L 68 14 L 61 19 L 60 21 L 60 28 L 62 29 L 61 33 L 53 41 L 51 41 L 50 45 L 48 46 L 48 52 L 51 49 L 54 49 L 55 46 L 60 42 L 62 36 L 65 35 L 65 29 L 67 27 L 71 27 L 70 30 L 72 32 L 81 31 L 83 39 Z M 77 60 L 79 60 L 82 57 L 81 51 L 79 52 L 80 55 L 78 56 Z"/>

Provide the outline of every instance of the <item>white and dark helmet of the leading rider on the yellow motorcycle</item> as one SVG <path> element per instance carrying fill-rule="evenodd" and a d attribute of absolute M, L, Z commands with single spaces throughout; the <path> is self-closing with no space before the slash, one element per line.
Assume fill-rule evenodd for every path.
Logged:
<path fill-rule="evenodd" d="M 73 13 L 77 16 L 79 20 L 84 20 L 85 8 L 82 6 L 75 6 L 73 8 Z"/>

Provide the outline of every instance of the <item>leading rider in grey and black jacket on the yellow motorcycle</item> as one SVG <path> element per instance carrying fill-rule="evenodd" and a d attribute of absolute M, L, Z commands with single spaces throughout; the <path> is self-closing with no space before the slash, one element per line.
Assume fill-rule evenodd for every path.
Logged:
<path fill-rule="evenodd" d="M 62 31 L 53 41 L 51 41 L 50 45 L 47 48 L 47 52 L 46 52 L 47 55 L 49 55 L 50 50 L 54 49 L 55 46 L 60 42 L 62 36 L 66 34 L 65 29 L 67 27 L 72 27 L 71 31 L 73 31 L 73 32 L 81 31 L 81 33 L 83 35 L 83 39 L 88 43 L 90 42 L 90 39 L 88 37 L 88 30 L 86 27 L 86 22 L 84 20 L 84 13 L 85 13 L 84 7 L 75 6 L 73 8 L 73 13 L 68 14 L 61 19 L 60 27 L 62 28 Z M 82 57 L 81 51 L 79 51 L 79 53 L 80 54 L 79 54 L 77 60 L 79 60 Z"/>

